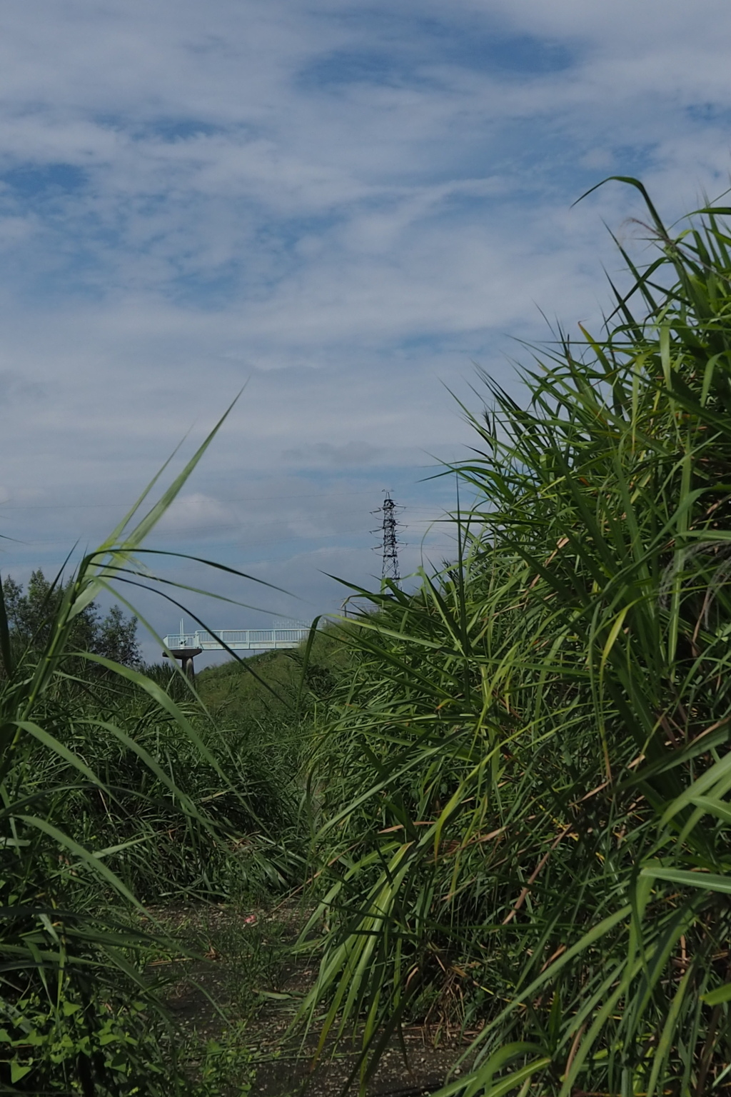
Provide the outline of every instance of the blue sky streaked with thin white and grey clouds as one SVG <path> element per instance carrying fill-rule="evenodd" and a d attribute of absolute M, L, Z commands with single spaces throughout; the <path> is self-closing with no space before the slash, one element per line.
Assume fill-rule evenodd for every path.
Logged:
<path fill-rule="evenodd" d="M 598 329 L 607 229 L 648 257 L 630 189 L 572 203 L 637 176 L 670 223 L 729 185 L 727 0 L 5 0 L 0 29 L 0 573 L 93 547 L 243 387 L 148 542 L 288 592 L 156 557 L 256 608 L 186 596 L 213 627 L 377 588 L 387 490 L 402 573 L 448 558 L 475 364 L 519 395 L 519 340 Z"/>

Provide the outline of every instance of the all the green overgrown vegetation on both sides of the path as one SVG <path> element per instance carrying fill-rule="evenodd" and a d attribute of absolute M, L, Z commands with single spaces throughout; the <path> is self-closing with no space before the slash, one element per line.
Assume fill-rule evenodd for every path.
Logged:
<path fill-rule="evenodd" d="M 409 1019 L 478 1033 L 443 1097 L 731 1089 L 731 208 L 648 210 L 601 337 L 559 333 L 523 404 L 482 377 L 446 471 L 477 502 L 415 591 L 352 588 L 372 612 L 197 692 L 111 657 L 90 607 L 205 446 L 32 629 L 7 586 L 0 1090 L 247 1093 L 241 1024 L 181 1036 L 151 972 L 224 901 L 187 947 L 232 932 L 243 986 L 274 937 L 237 903 L 306 880 L 299 1020 L 356 1032 L 362 1086 Z"/>

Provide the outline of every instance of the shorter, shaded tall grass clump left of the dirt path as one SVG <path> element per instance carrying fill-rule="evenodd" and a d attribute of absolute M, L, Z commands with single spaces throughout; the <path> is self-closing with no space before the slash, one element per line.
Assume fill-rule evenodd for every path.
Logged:
<path fill-rule="evenodd" d="M 205 710 L 180 695 L 187 687 L 175 700 L 159 675 L 73 646 L 102 591 L 119 599 L 149 583 L 142 541 L 215 432 L 151 506 L 148 488 L 71 583 L 59 579 L 48 626 L 26 651 L 11 643 L 0 588 L 3 1093 L 220 1093 L 179 1062 L 145 973 L 156 941 L 135 912 L 142 900 L 219 894 L 232 879 L 281 880 L 288 855 L 250 770 L 236 772 L 235 745 L 214 745 Z"/>

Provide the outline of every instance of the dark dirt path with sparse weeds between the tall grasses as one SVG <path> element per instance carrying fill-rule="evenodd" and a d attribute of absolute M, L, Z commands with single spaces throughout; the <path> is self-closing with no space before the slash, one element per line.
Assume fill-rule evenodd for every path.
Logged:
<path fill-rule="evenodd" d="M 195 943 L 205 959 L 167 965 L 172 976 L 168 1006 L 180 1030 L 195 1033 L 202 1043 L 224 1039 L 226 1030 L 210 999 L 230 1021 L 245 1020 L 238 1038 L 253 1052 L 251 1097 L 350 1097 L 358 1092 L 356 1047 L 343 1042 L 335 1054 L 325 1050 L 313 1067 L 318 1033 L 304 1044 L 300 1038 L 286 1036 L 316 974 L 307 955 L 290 951 L 301 923 L 302 913 L 294 905 L 258 911 L 253 919 L 232 907 L 172 916 L 171 928 L 189 945 Z M 418 1028 L 404 1030 L 403 1047 L 406 1060 L 398 1038 L 390 1040 L 367 1084 L 369 1097 L 431 1094 L 444 1085 L 464 1051 L 454 1040 L 435 1047 L 430 1033 Z M 236 1097 L 242 1092 L 238 1085 L 231 1088 Z"/>

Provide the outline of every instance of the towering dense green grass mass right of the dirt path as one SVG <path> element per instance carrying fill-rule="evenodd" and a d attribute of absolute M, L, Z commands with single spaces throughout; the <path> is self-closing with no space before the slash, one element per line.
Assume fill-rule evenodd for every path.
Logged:
<path fill-rule="evenodd" d="M 731 1086 L 731 211 L 644 196 L 604 332 L 482 375 L 455 562 L 344 633 L 302 1017 L 363 1081 L 416 1016 L 479 1032 L 445 1095 Z"/>

